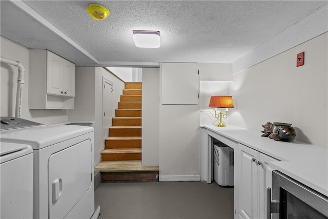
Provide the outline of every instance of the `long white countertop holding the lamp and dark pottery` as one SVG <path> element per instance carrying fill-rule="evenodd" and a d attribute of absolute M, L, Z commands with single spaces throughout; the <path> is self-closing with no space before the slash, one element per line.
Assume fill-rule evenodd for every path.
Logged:
<path fill-rule="evenodd" d="M 328 147 L 298 141 L 279 142 L 261 137 L 263 133 L 260 131 L 229 125 L 216 127 L 209 124 L 200 127 L 280 160 L 272 162 L 273 169 L 328 196 Z"/>

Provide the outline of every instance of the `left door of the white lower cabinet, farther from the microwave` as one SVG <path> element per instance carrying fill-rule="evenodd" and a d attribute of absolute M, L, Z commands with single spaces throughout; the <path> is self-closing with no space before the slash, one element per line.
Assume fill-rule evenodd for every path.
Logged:
<path fill-rule="evenodd" d="M 242 218 L 258 218 L 259 152 L 239 146 L 239 214 Z"/>

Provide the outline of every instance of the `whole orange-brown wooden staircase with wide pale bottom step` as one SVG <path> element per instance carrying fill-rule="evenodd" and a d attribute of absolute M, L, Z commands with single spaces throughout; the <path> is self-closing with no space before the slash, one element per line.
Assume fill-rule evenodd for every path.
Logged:
<path fill-rule="evenodd" d="M 118 109 L 109 127 L 101 162 L 101 182 L 158 181 L 158 166 L 141 165 L 142 84 L 125 83 Z"/>

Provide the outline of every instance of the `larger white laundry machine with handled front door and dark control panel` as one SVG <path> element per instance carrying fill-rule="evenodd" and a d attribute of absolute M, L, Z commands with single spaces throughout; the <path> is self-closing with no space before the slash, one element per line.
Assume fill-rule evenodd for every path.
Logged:
<path fill-rule="evenodd" d="M 33 148 L 33 218 L 91 218 L 95 212 L 93 128 L 31 126 L 20 118 L 1 119 L 1 142 Z M 10 127 L 14 124 L 20 125 Z"/>

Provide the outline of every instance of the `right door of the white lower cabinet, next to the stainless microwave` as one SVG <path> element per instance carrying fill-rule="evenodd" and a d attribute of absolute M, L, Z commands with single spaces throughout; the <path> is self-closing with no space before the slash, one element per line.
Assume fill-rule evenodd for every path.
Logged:
<path fill-rule="evenodd" d="M 265 213 L 267 212 L 267 187 L 271 188 L 273 170 L 270 168 L 270 162 L 278 160 L 260 153 L 259 161 L 261 162 L 259 167 L 259 214 L 260 218 L 267 218 Z"/>

